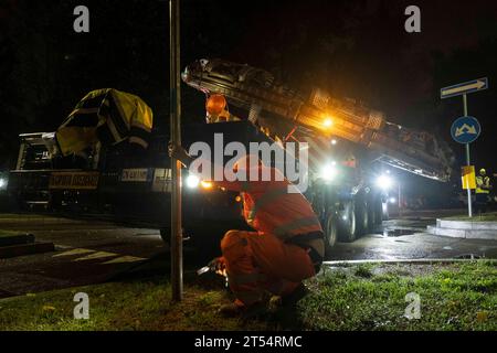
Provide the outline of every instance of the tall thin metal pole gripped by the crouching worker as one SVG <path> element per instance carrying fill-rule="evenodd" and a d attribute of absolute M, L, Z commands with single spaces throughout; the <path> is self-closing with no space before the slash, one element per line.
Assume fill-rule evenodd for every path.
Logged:
<path fill-rule="evenodd" d="M 173 146 L 181 145 L 180 0 L 169 0 L 170 131 Z M 181 162 L 171 158 L 171 287 L 172 300 L 183 297 L 183 249 L 181 232 Z"/>

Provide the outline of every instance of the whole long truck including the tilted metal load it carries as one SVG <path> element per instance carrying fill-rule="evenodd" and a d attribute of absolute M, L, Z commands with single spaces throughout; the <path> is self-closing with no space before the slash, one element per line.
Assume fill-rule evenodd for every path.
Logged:
<path fill-rule="evenodd" d="M 298 156 L 308 148 L 305 195 L 322 223 L 328 250 L 337 239 L 352 242 L 381 224 L 385 216 L 382 186 L 388 183 L 383 165 L 442 182 L 451 176 L 453 156 L 444 141 L 390 122 L 381 111 L 350 99 L 321 89 L 306 96 L 264 69 L 223 60 L 197 61 L 184 68 L 182 79 L 207 96 L 207 108 L 214 98 L 226 101 L 222 111 L 208 113 L 210 124 L 182 125 L 187 150 L 199 141 L 214 146 L 219 135 L 224 143 L 276 142 L 283 150 L 295 142 Z M 81 163 L 74 154 L 61 156 L 56 133 L 20 136 L 18 162 L 8 183 L 17 205 L 155 227 L 168 240 L 167 135 L 152 130 L 148 147 L 139 151 L 129 150 L 126 138 L 107 146 L 94 139 L 99 148 L 91 148 Z M 183 178 L 184 235 L 212 234 L 205 232 L 207 224 L 216 226 L 219 237 L 223 231 L 243 227 L 236 194 L 188 172 Z"/>

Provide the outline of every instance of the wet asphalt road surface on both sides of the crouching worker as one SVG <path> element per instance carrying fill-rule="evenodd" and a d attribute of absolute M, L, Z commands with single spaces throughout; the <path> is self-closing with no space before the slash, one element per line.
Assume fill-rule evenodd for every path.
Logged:
<path fill-rule="evenodd" d="M 329 259 L 452 258 L 469 254 L 497 258 L 497 242 L 423 233 L 426 225 L 434 222 L 434 215 L 426 213 L 384 222 L 376 234 L 350 244 L 338 243 Z M 56 246 L 53 253 L 0 259 L 0 298 L 102 282 L 150 263 L 156 263 L 152 272 L 169 275 L 168 247 L 157 229 L 9 214 L 0 214 L 0 229 L 32 233 L 38 242 L 53 242 Z M 209 231 L 205 233 L 207 237 L 219 237 Z M 192 268 L 200 265 L 194 263 L 199 254 L 194 255 L 195 250 L 189 249 L 188 243 L 184 252 L 186 267 L 189 263 Z M 201 255 L 210 258 L 218 254 Z"/>

